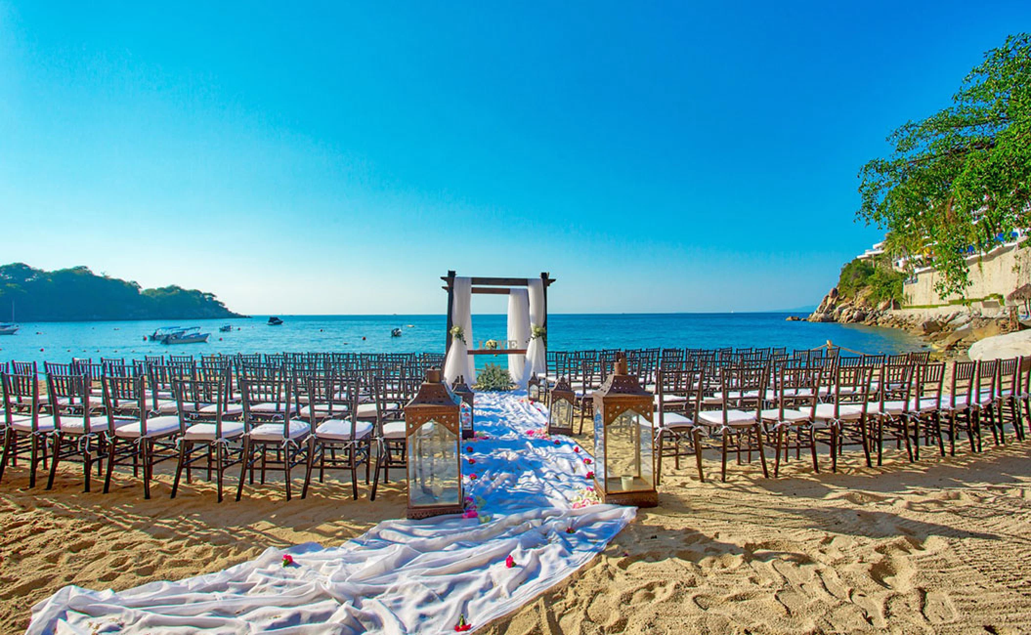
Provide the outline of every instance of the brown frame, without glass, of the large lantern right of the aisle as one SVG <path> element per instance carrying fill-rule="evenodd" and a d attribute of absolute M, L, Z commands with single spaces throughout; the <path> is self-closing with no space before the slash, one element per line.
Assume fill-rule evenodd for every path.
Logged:
<path fill-rule="evenodd" d="M 598 462 L 604 460 L 602 468 L 605 480 L 599 480 L 597 468 L 595 470 L 595 491 L 602 497 L 605 503 L 617 505 L 634 505 L 637 507 L 656 507 L 659 504 L 659 492 L 655 486 L 655 396 L 641 388 L 637 377 L 627 372 L 627 358 L 621 355 L 616 362 L 612 372 L 605 378 L 601 388 L 592 395 L 594 400 L 594 415 L 601 419 L 601 430 L 604 449 L 604 457 L 595 457 Z M 642 416 L 650 427 L 652 427 L 652 454 L 648 457 L 638 457 L 641 462 L 652 462 L 652 487 L 647 490 L 636 490 L 632 492 L 609 492 L 606 481 L 609 478 L 608 469 L 608 427 L 623 413 L 633 410 Z M 597 447 L 597 423 L 595 427 L 595 447 Z M 637 452 L 641 448 L 638 445 Z"/>

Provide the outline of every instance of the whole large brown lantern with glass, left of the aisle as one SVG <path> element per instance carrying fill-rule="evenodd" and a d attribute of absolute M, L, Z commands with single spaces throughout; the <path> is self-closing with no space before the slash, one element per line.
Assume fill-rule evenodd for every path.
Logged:
<path fill-rule="evenodd" d="M 404 407 L 409 519 L 463 510 L 461 403 L 441 380 L 440 369 L 431 368 Z"/>

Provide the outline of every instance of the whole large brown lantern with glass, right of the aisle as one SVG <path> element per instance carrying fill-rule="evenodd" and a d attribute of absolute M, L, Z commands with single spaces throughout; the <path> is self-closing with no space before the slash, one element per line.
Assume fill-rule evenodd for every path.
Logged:
<path fill-rule="evenodd" d="M 655 507 L 652 393 L 627 373 L 621 355 L 593 398 L 595 490 L 606 503 Z"/>

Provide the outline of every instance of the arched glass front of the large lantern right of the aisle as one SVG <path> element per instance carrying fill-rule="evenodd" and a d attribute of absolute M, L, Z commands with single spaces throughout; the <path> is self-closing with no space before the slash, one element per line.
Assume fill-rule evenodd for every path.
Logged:
<path fill-rule="evenodd" d="M 639 412 L 627 410 L 607 426 L 605 436 L 605 491 L 653 490 L 652 423 Z"/>

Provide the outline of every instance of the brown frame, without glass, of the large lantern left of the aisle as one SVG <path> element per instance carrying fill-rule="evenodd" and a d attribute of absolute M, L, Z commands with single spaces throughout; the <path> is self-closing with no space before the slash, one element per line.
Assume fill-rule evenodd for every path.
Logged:
<path fill-rule="evenodd" d="M 458 502 L 438 505 L 412 505 L 411 482 L 407 489 L 408 519 L 426 519 L 445 513 L 462 513 L 465 509 L 465 488 L 462 479 L 462 424 L 460 416 L 461 398 L 453 393 L 441 380 L 439 368 L 426 371 L 426 380 L 419 387 L 419 392 L 404 407 L 404 442 L 407 461 L 418 461 L 419 457 L 411 452 L 412 435 L 427 422 L 436 422 L 455 435 L 455 461 L 458 470 Z M 408 473 L 408 468 L 405 469 Z"/>

